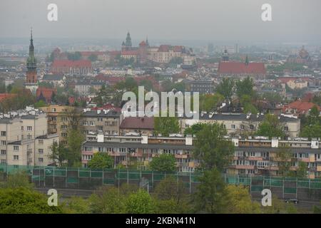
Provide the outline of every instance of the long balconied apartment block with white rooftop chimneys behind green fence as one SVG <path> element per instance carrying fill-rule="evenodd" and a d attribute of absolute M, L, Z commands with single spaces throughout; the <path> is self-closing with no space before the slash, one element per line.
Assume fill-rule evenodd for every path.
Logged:
<path fill-rule="evenodd" d="M 194 172 L 199 161 L 193 157 L 195 138 L 171 135 L 170 137 L 107 136 L 87 135 L 83 143 L 82 164 L 87 166 L 95 152 L 107 152 L 114 160 L 114 166 L 131 165 L 138 162 L 137 168 L 146 168 L 148 162 L 163 153 L 175 156 L 180 172 Z M 290 170 L 298 170 L 300 162 L 306 165 L 306 176 L 321 177 L 320 140 L 295 138 L 293 140 L 268 140 L 265 137 L 227 138 L 235 145 L 233 160 L 226 172 L 232 175 L 281 175 L 280 158 L 277 156 L 284 147 L 290 152 Z M 282 161 L 283 162 L 283 161 Z"/>

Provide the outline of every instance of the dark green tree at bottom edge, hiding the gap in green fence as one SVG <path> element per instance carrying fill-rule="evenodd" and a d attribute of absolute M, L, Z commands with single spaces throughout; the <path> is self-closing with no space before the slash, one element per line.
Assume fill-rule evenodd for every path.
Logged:
<path fill-rule="evenodd" d="M 203 176 L 198 177 L 199 185 L 193 195 L 196 212 L 221 213 L 224 211 L 223 195 L 225 182 L 220 176 L 220 172 L 213 168 L 203 172 Z"/>

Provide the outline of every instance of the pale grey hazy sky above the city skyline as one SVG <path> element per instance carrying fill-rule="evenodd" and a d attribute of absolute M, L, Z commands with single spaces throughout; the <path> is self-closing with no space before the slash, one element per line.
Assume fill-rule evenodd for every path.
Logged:
<path fill-rule="evenodd" d="M 58 21 L 47 6 L 58 5 Z M 261 6 L 272 5 L 272 22 Z M 320 41 L 320 0 L 0 0 L 0 37 Z"/>

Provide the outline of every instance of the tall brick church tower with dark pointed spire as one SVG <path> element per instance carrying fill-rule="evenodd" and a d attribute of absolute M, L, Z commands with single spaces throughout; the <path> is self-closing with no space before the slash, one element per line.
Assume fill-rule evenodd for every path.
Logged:
<path fill-rule="evenodd" d="M 31 29 L 31 38 L 29 45 L 29 56 L 26 61 L 26 89 L 29 89 L 31 93 L 36 94 L 36 90 L 38 88 L 38 80 L 37 80 L 37 65 L 36 58 L 34 58 L 34 40 L 32 38 L 32 29 Z"/>

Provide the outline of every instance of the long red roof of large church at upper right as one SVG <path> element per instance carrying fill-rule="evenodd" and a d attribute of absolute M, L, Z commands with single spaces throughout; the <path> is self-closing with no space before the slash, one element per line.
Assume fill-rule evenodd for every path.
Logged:
<path fill-rule="evenodd" d="M 266 73 L 264 63 L 220 62 L 218 73 Z"/>

